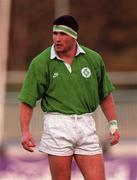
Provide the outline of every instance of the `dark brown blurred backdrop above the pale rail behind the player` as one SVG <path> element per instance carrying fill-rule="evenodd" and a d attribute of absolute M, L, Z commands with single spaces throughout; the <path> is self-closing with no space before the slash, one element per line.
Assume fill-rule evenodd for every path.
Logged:
<path fill-rule="evenodd" d="M 78 41 L 98 51 L 108 71 L 137 70 L 137 1 L 70 0 Z M 54 0 L 12 0 L 8 70 L 27 70 L 52 44 Z"/>

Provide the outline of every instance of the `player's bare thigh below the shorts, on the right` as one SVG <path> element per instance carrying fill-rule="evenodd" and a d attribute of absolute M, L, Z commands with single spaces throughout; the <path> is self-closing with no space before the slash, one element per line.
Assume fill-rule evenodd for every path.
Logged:
<path fill-rule="evenodd" d="M 105 180 L 102 154 L 75 155 L 74 158 L 85 180 Z"/>

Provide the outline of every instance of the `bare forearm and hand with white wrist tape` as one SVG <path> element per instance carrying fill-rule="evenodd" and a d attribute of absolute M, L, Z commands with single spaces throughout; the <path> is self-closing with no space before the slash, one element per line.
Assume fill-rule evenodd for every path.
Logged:
<path fill-rule="evenodd" d="M 103 99 L 100 106 L 109 122 L 110 143 L 111 145 L 117 144 L 119 142 L 120 133 L 118 130 L 115 103 L 111 93 Z"/>

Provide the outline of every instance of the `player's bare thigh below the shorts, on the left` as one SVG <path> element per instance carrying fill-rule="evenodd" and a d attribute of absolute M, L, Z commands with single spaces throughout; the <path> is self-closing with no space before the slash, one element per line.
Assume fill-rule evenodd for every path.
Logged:
<path fill-rule="evenodd" d="M 48 155 L 52 180 L 70 180 L 72 156 Z"/>

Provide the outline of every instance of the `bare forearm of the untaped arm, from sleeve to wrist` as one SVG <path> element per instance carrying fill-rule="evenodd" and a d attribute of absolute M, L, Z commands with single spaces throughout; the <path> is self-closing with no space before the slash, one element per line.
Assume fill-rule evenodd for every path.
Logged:
<path fill-rule="evenodd" d="M 29 132 L 29 125 L 33 113 L 33 108 L 25 103 L 20 106 L 20 125 L 22 133 Z"/>

